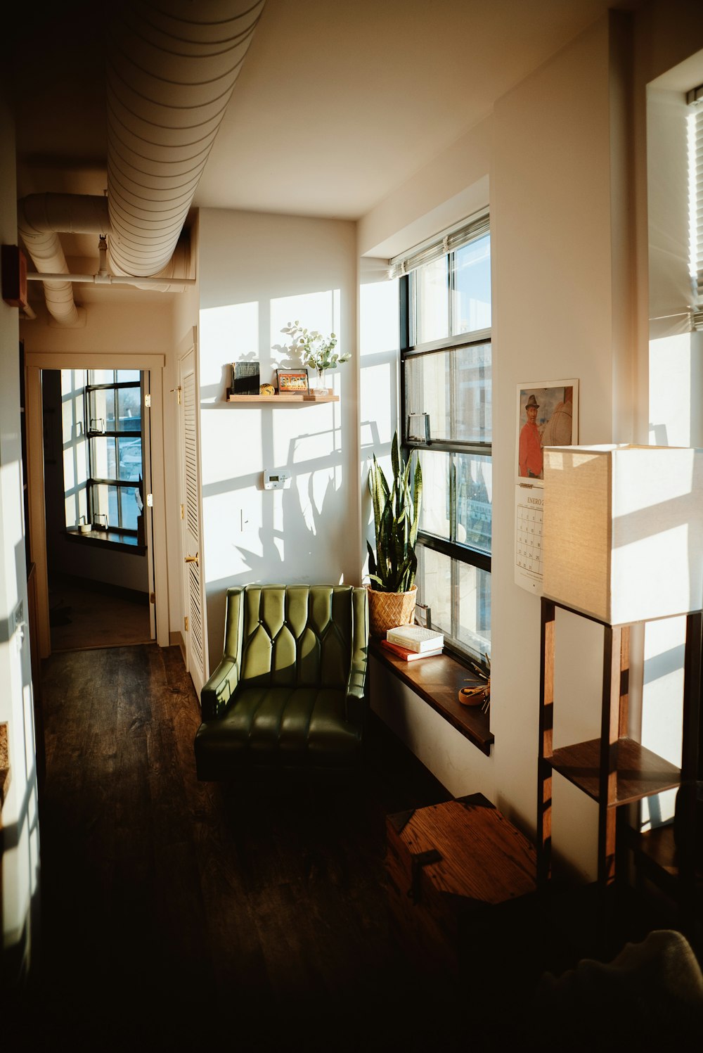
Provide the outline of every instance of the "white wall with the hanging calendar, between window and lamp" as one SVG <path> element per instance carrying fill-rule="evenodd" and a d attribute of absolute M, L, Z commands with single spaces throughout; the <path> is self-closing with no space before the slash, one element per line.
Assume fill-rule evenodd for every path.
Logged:
<path fill-rule="evenodd" d="M 619 312 L 612 296 L 610 20 L 601 19 L 501 99 L 494 114 L 494 642 L 497 803 L 534 828 L 540 603 L 514 583 L 519 383 L 575 377 L 579 442 L 614 441 Z M 629 393 L 627 393 L 629 394 Z M 601 633 L 558 616 L 555 746 L 600 732 Z M 554 779 L 557 855 L 594 874 L 596 808 Z"/>

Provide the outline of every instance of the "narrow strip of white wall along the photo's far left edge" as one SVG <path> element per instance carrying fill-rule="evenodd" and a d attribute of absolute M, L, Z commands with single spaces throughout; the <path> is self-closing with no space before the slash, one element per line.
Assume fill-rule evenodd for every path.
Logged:
<path fill-rule="evenodd" d="M 0 93 L 0 243 L 17 244 L 15 125 Z M 11 783 L 2 809 L 3 975 L 12 988 L 28 968 L 39 882 L 37 767 L 22 506 L 18 309 L 0 301 L 0 722 L 8 724 Z M 12 997 L 12 995 L 11 995 Z"/>

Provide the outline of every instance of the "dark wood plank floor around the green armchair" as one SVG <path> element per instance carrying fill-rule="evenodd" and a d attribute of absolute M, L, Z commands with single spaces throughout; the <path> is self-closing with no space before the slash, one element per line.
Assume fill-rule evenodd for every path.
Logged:
<path fill-rule="evenodd" d="M 236 789 L 195 777 L 178 649 L 54 654 L 42 689 L 41 968 L 7 1049 L 535 1048 L 539 915 L 469 977 L 395 939 L 385 817 L 449 795 L 382 726 L 354 788 Z"/>

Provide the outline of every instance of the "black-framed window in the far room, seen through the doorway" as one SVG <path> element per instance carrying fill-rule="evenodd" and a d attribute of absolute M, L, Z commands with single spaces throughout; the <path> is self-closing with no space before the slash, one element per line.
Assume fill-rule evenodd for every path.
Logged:
<path fill-rule="evenodd" d="M 71 493 L 65 491 L 66 526 L 87 522 L 93 528 L 91 537 L 143 543 L 141 374 L 138 370 L 64 373 L 72 378 L 62 385 L 64 411 L 71 405 L 76 418 L 71 443 L 73 486 Z M 64 426 L 64 485 L 65 435 Z M 80 463 L 77 472 L 83 459 L 85 465 Z"/>

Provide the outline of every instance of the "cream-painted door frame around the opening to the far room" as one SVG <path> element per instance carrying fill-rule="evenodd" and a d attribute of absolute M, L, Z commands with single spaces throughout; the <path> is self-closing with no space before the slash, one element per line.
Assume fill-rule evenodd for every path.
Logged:
<path fill-rule="evenodd" d="M 37 631 L 40 658 L 52 653 L 48 620 L 48 569 L 46 559 L 46 506 L 44 502 L 44 422 L 42 370 L 140 370 L 152 374 L 152 493 L 154 536 L 154 590 L 156 641 L 168 647 L 168 563 L 166 553 L 166 488 L 163 444 L 163 370 L 165 355 L 104 352 L 25 351 L 25 414 L 27 436 L 27 497 L 29 558 L 37 582 Z"/>

